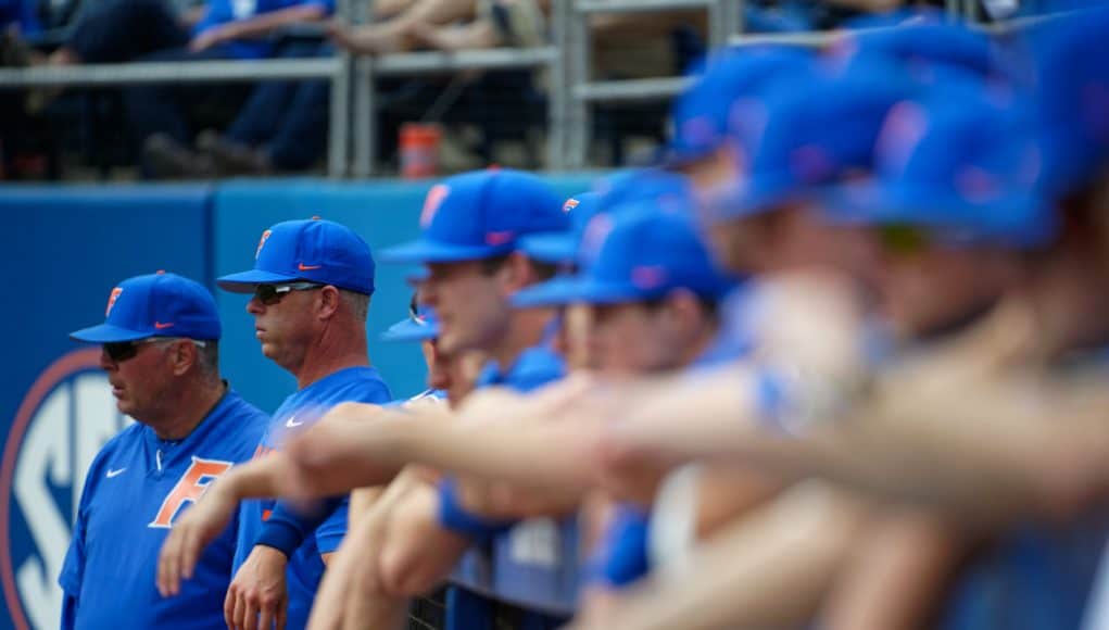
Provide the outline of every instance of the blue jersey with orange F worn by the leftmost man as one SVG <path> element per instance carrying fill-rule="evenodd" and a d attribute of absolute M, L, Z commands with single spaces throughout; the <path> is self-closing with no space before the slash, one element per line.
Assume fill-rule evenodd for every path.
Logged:
<path fill-rule="evenodd" d="M 173 522 L 207 485 L 251 459 L 267 421 L 228 389 L 184 439 L 160 439 L 141 424 L 110 439 L 89 467 L 58 578 L 61 628 L 223 628 L 237 518 L 204 548 L 176 597 L 157 592 L 157 557 Z"/>

